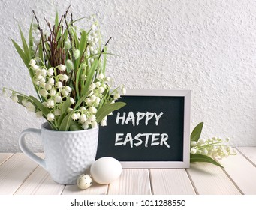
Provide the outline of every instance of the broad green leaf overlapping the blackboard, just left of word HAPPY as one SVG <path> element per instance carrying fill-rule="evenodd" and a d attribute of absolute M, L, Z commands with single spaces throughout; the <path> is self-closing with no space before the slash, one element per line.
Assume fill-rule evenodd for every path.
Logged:
<path fill-rule="evenodd" d="M 96 121 L 99 123 L 105 116 L 112 113 L 115 110 L 119 110 L 126 104 L 124 102 L 116 102 L 114 104 L 104 104 L 96 113 Z"/>

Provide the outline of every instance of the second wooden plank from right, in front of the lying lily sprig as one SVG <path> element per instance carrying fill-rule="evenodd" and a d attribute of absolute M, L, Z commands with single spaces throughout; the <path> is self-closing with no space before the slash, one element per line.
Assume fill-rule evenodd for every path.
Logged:
<path fill-rule="evenodd" d="M 256 194 L 256 167 L 242 154 L 227 157 L 220 161 L 224 171 L 246 195 Z"/>

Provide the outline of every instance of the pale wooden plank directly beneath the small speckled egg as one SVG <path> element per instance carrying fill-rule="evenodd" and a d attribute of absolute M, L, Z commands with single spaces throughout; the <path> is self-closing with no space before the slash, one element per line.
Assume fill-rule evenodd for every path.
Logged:
<path fill-rule="evenodd" d="M 67 185 L 62 195 L 106 195 L 108 185 L 101 185 L 93 182 L 92 186 L 86 190 L 80 190 L 77 184 Z"/>

